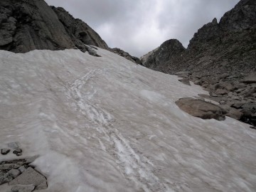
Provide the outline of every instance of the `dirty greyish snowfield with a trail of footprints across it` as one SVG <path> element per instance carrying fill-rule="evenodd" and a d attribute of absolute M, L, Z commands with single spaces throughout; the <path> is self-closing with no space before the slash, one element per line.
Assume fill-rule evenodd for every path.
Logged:
<path fill-rule="evenodd" d="M 201 87 L 97 53 L 0 51 L 0 147 L 40 155 L 42 192 L 256 190 L 254 129 L 192 117 L 175 101 Z"/>

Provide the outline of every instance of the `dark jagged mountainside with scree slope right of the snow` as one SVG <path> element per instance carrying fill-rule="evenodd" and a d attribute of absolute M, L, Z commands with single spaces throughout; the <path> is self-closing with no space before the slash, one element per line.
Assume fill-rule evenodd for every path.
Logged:
<path fill-rule="evenodd" d="M 148 68 L 202 85 L 230 117 L 256 124 L 255 0 L 241 0 L 219 23 L 214 18 L 204 25 L 187 49 L 170 40 L 141 60 Z"/>

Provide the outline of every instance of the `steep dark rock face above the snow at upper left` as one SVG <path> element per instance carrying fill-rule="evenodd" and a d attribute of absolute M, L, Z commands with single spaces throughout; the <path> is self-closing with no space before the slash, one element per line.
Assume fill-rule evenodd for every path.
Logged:
<path fill-rule="evenodd" d="M 0 1 L 0 49 L 26 53 L 34 49 L 87 50 L 84 43 L 100 48 L 107 44 L 86 23 L 43 0 Z"/>

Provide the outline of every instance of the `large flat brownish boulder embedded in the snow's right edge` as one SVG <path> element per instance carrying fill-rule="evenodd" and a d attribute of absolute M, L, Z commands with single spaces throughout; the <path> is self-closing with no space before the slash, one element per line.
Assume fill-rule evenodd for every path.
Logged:
<path fill-rule="evenodd" d="M 225 119 L 225 110 L 210 102 L 185 97 L 179 99 L 175 103 L 181 110 L 194 117 L 199 117 L 201 119 Z"/>

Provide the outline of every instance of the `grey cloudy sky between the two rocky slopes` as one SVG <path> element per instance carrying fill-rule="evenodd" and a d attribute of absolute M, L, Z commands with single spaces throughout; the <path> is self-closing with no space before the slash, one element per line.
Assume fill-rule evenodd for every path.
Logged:
<path fill-rule="evenodd" d="M 46 0 L 91 26 L 107 45 L 140 57 L 170 38 L 193 34 L 239 0 Z"/>

